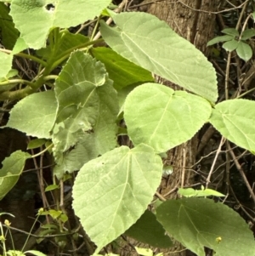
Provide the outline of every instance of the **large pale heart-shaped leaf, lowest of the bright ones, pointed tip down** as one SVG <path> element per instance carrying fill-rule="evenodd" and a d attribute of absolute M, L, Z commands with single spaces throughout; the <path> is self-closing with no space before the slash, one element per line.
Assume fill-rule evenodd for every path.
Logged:
<path fill-rule="evenodd" d="M 73 186 L 73 208 L 100 249 L 144 213 L 161 181 L 161 157 L 148 145 L 122 146 L 86 163 Z"/>

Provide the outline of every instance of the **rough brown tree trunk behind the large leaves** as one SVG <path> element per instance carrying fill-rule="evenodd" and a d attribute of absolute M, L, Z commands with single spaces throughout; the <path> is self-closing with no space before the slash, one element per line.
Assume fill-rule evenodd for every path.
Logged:
<path fill-rule="evenodd" d="M 215 26 L 215 14 L 210 12 L 217 10 L 219 0 L 183 0 L 181 3 L 178 1 L 151 3 L 150 0 L 145 0 L 143 3 L 150 3 L 147 5 L 146 12 L 156 15 L 160 20 L 165 20 L 178 35 L 189 40 L 204 54 L 208 54 L 207 42 L 212 39 Z M 178 88 L 161 77 L 158 77 L 156 82 Z M 190 141 L 167 152 L 166 162 L 173 165 L 173 174 L 162 179 L 159 189 L 162 196 L 176 198 L 178 187 L 193 184 L 195 172 L 192 167 L 195 164 L 197 145 L 198 139 L 195 135 Z M 167 252 L 171 252 L 172 256 L 193 255 L 179 242 L 175 242 L 174 247 Z"/>

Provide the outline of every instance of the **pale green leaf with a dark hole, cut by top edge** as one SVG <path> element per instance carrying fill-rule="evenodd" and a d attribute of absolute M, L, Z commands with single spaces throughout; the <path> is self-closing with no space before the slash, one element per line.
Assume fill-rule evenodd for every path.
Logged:
<path fill-rule="evenodd" d="M 51 28 L 69 28 L 93 20 L 109 3 L 110 0 L 12 0 L 10 14 L 20 31 L 20 37 L 29 48 L 38 49 L 46 46 Z M 37 22 L 31 22 L 35 17 Z"/>

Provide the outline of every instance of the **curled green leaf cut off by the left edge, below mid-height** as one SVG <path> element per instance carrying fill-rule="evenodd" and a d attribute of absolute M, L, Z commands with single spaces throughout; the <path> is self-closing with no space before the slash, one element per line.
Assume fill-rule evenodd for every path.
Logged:
<path fill-rule="evenodd" d="M 0 200 L 10 191 L 20 178 L 26 159 L 31 155 L 23 151 L 14 151 L 3 160 L 0 170 Z"/>

